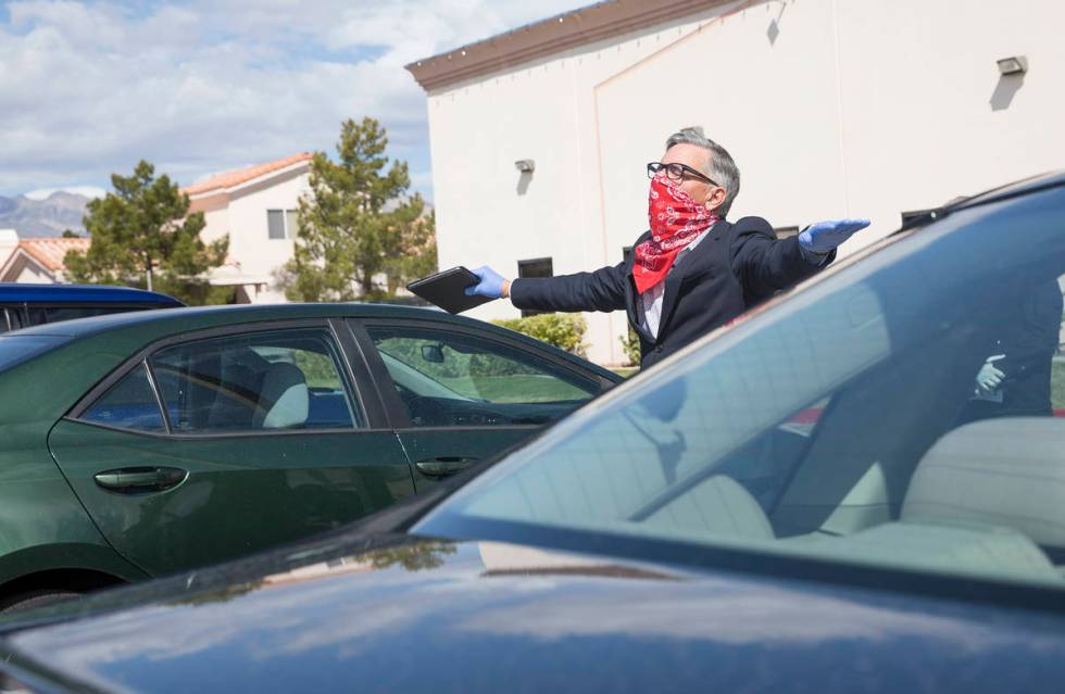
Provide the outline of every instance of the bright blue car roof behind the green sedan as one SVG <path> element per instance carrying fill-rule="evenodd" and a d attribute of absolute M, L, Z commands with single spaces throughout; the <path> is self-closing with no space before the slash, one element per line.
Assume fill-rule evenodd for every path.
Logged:
<path fill-rule="evenodd" d="M 0 282 L 0 332 L 106 313 L 184 305 L 173 296 L 129 287 Z"/>

